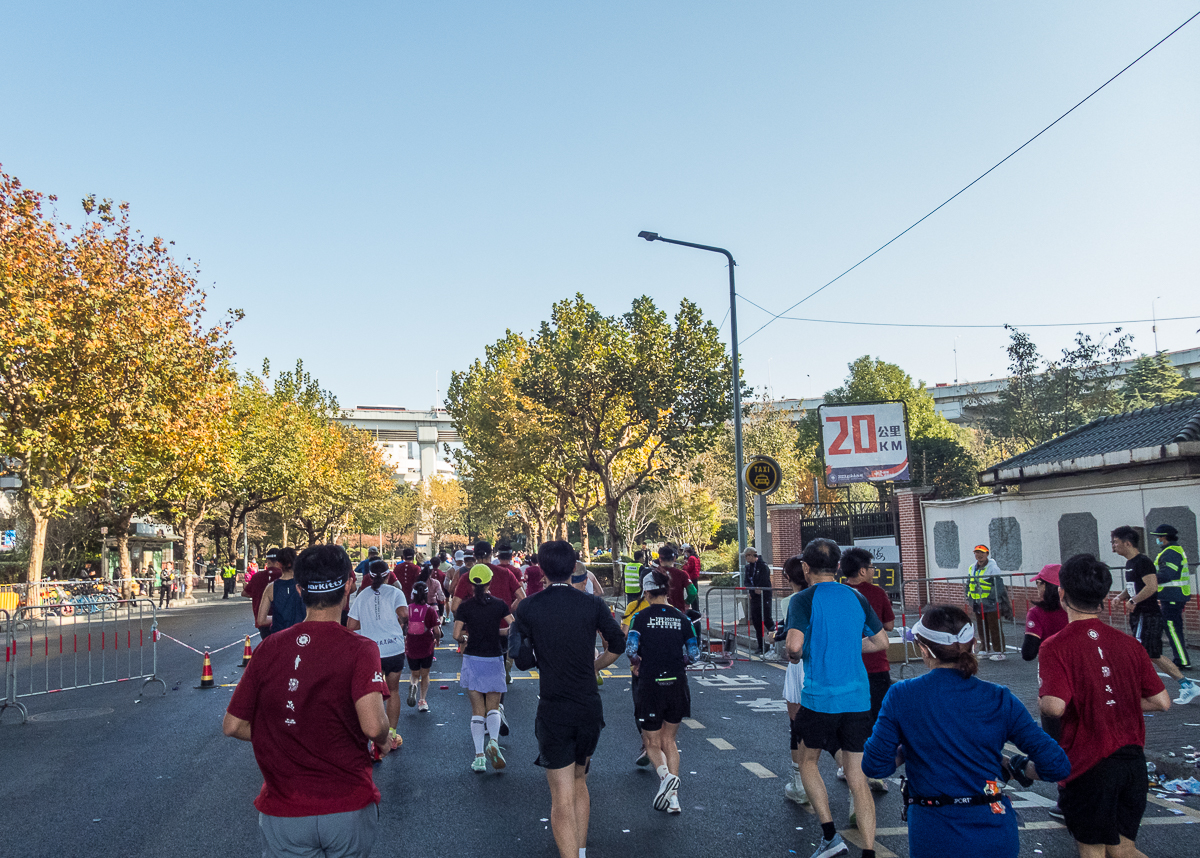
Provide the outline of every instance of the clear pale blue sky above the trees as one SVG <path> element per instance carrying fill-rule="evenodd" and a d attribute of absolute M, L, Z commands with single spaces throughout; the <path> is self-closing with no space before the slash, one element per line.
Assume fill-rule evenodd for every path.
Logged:
<path fill-rule="evenodd" d="M 85 193 L 128 200 L 198 259 L 210 306 L 246 311 L 240 366 L 302 358 L 342 404 L 426 408 L 576 292 L 720 322 L 721 257 L 641 229 L 728 247 L 781 311 L 1198 8 L 5 1 L 0 163 L 68 221 Z M 1200 19 L 797 314 L 1200 314 L 1198 142 Z M 743 302 L 743 336 L 766 318 Z M 1198 328 L 1160 324 L 1160 348 Z M 1044 354 L 1072 334 L 1033 331 Z M 864 353 L 950 382 L 955 336 L 961 379 L 1003 373 L 1003 331 L 782 320 L 744 370 L 780 397 Z"/>

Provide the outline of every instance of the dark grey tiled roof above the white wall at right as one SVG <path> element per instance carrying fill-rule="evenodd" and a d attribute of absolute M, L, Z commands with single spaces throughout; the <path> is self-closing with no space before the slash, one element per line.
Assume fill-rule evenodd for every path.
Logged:
<path fill-rule="evenodd" d="M 1186 440 L 1200 440 L 1200 396 L 1093 420 L 988 470 L 1028 468 Z"/>

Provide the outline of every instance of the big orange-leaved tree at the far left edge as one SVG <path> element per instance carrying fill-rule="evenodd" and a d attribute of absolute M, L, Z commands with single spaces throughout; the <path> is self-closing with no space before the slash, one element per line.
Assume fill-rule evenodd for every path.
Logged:
<path fill-rule="evenodd" d="M 152 469 L 148 456 L 182 455 L 168 432 L 230 356 L 238 318 L 205 326 L 196 266 L 138 233 L 127 205 L 89 197 L 72 230 L 42 202 L 0 172 L 0 455 L 32 521 L 30 581 L 52 517 L 132 479 L 127 456 Z"/>

